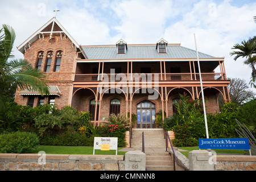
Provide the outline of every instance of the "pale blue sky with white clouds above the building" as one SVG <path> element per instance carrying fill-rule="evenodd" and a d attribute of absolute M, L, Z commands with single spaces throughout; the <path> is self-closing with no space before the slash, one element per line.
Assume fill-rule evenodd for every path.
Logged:
<path fill-rule="evenodd" d="M 154 44 L 164 38 L 195 49 L 195 34 L 198 51 L 225 57 L 227 76 L 249 84 L 251 68 L 244 58 L 234 61 L 230 52 L 234 44 L 256 36 L 255 0 L 5 1 L 0 23 L 16 32 L 15 58 L 23 58 L 16 46 L 48 22 L 56 7 L 57 20 L 82 46 L 115 44 L 121 38 L 127 44 Z"/>

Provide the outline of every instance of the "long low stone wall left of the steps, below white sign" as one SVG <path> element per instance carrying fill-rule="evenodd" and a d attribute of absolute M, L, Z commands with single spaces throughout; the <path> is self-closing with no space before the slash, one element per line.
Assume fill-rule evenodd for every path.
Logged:
<path fill-rule="evenodd" d="M 0 154 L 0 171 L 123 171 L 124 168 L 123 155 Z"/>

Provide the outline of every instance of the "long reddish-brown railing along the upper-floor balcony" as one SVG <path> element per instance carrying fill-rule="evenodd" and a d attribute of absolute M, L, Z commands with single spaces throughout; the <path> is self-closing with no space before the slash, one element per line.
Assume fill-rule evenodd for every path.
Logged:
<path fill-rule="evenodd" d="M 121 73 L 121 74 L 106 74 L 102 76 L 101 74 L 76 74 L 75 81 L 86 82 L 86 81 L 101 81 L 108 78 L 109 81 L 155 81 L 155 80 L 167 80 L 167 81 L 191 81 L 200 80 L 199 73 Z M 226 80 L 224 73 L 201 73 L 202 80 L 212 81 L 212 80 Z M 101 79 L 102 78 L 102 79 Z"/>

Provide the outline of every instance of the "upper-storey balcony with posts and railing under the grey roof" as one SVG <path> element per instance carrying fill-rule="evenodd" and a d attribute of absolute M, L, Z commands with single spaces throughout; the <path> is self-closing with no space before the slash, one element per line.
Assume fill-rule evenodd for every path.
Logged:
<path fill-rule="evenodd" d="M 202 61 L 203 81 L 224 81 L 224 63 Z M 216 69 L 217 68 L 217 69 Z M 216 71 L 216 72 L 215 72 Z M 108 81 L 199 81 L 199 69 L 194 61 L 134 62 L 134 63 L 77 63 L 74 84 L 97 84 Z M 78 83 L 79 82 L 79 83 Z"/>

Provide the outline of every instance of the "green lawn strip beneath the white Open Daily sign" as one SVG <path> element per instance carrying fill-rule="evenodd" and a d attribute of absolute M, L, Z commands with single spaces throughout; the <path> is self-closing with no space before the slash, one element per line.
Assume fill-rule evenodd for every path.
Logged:
<path fill-rule="evenodd" d="M 122 147 L 118 147 L 118 150 Z M 85 154 L 93 155 L 93 147 L 88 146 L 39 146 L 38 152 L 44 151 L 46 154 Z M 117 155 L 125 155 L 126 152 L 118 152 Z M 95 150 L 96 155 L 115 155 L 115 150 L 101 151 Z"/>

